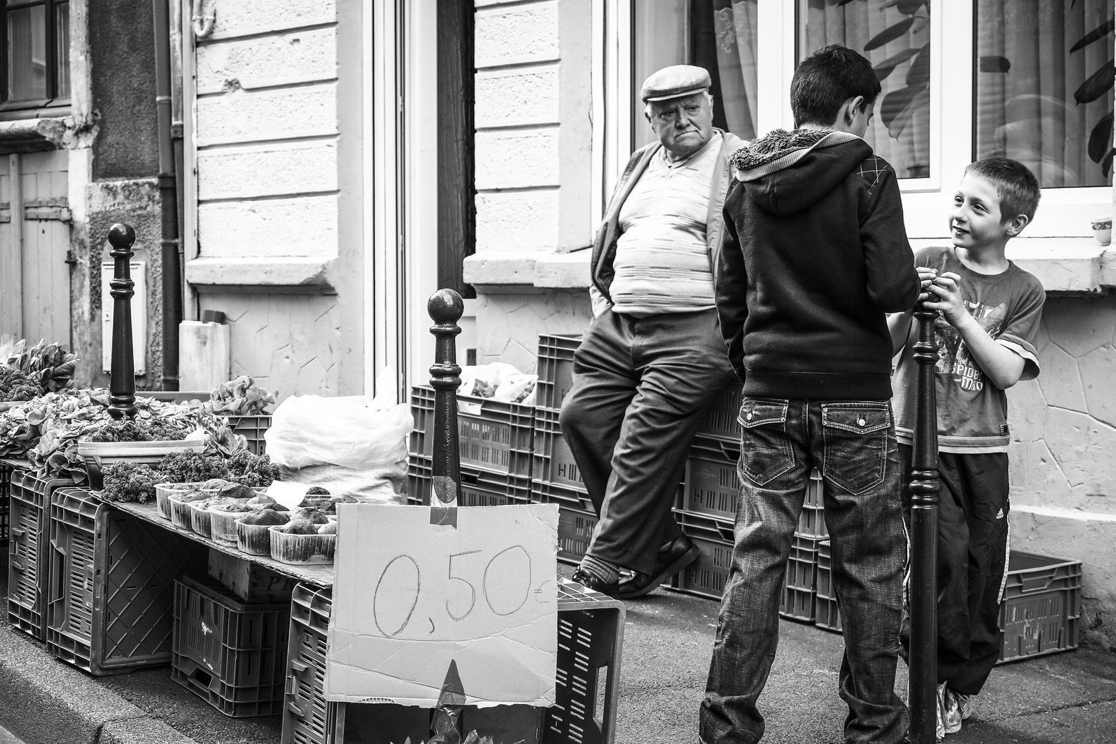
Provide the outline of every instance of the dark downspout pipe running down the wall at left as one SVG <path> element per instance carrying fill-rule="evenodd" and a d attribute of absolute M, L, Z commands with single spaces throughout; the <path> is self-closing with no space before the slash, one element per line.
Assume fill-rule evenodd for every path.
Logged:
<path fill-rule="evenodd" d="M 155 112 L 158 117 L 158 194 L 163 218 L 163 389 L 179 389 L 179 325 L 182 263 L 179 260 L 179 197 L 171 139 L 171 16 L 169 0 L 152 0 L 155 19 Z"/>

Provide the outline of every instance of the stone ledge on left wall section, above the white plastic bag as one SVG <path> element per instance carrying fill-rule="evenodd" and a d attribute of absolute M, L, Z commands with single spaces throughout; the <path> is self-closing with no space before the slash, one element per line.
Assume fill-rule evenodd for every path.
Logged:
<path fill-rule="evenodd" d="M 335 293 L 329 279 L 333 258 L 200 258 L 186 261 L 186 281 L 199 292 L 282 288 L 314 294 Z"/>

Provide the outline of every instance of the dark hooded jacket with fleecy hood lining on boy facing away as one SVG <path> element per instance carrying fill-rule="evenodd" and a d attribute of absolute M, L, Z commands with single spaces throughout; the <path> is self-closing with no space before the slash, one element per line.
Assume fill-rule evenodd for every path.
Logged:
<path fill-rule="evenodd" d="M 731 163 L 714 279 L 744 395 L 889 399 L 885 313 L 918 297 L 892 166 L 826 129 L 777 129 Z"/>

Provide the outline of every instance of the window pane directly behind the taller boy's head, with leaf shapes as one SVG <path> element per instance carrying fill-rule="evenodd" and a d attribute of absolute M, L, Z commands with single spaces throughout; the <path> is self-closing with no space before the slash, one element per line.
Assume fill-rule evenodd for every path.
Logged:
<path fill-rule="evenodd" d="M 930 0 L 800 0 L 798 58 L 831 44 L 872 61 L 883 93 L 865 139 L 901 178 L 930 167 Z"/>

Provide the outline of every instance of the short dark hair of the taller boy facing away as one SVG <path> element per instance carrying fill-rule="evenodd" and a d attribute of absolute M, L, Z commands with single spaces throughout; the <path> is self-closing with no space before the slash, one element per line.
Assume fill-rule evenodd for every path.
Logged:
<path fill-rule="evenodd" d="M 818 49 L 798 64 L 790 80 L 795 126 L 833 124 L 846 100 L 864 96 L 872 106 L 882 89 L 872 62 L 863 55 L 839 44 Z"/>

